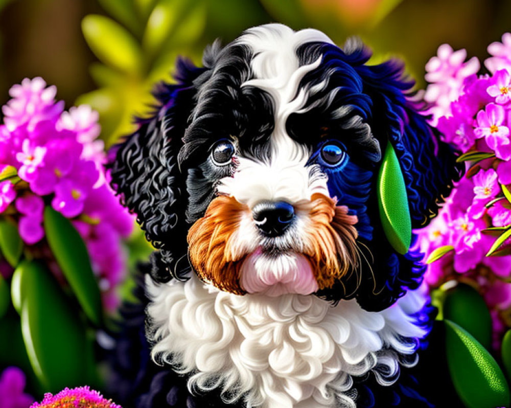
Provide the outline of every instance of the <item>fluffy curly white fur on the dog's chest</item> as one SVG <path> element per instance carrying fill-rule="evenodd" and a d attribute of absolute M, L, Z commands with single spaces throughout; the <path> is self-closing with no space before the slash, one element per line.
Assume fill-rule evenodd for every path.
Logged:
<path fill-rule="evenodd" d="M 248 408 L 355 408 L 352 376 L 373 371 L 391 384 L 400 363 L 416 363 L 406 338 L 426 335 L 412 316 L 425 303 L 416 291 L 375 313 L 355 300 L 238 296 L 195 274 L 162 285 L 148 278 L 147 288 L 153 358 L 191 374 L 190 390 L 220 388 L 226 402 L 243 398 Z"/>

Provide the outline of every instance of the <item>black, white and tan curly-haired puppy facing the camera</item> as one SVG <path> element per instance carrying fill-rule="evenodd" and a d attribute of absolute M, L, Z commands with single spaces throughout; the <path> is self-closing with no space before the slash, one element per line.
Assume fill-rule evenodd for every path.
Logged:
<path fill-rule="evenodd" d="M 419 228 L 461 169 L 403 65 L 369 57 L 313 29 L 248 29 L 203 67 L 179 60 L 115 147 L 111 184 L 157 248 L 147 337 L 172 381 L 151 392 L 169 405 L 351 408 L 360 380 L 416 363 L 423 254 L 382 226 L 379 172 L 391 149 Z"/>

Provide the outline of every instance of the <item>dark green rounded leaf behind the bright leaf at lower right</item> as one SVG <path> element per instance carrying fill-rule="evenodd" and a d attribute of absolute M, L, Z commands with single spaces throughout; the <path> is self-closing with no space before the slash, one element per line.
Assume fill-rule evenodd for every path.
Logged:
<path fill-rule="evenodd" d="M 447 291 L 443 312 L 444 319 L 459 324 L 484 348 L 492 347 L 492 317 L 484 299 L 474 288 L 458 284 Z"/>

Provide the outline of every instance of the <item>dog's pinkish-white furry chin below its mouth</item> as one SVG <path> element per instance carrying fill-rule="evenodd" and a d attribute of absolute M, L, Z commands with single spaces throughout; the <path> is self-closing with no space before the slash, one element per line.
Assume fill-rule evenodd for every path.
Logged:
<path fill-rule="evenodd" d="M 247 293 L 281 296 L 287 293 L 310 295 L 318 283 L 310 262 L 296 252 L 252 252 L 241 266 L 240 284 Z"/>

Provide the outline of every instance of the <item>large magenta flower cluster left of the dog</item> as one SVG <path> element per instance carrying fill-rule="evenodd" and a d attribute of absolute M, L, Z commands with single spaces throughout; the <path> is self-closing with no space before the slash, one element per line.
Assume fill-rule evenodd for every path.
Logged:
<path fill-rule="evenodd" d="M 86 105 L 64 111 L 55 86 L 46 87 L 41 78 L 26 78 L 9 94 L 0 125 L 0 171 L 17 175 L 0 182 L 0 215 L 14 214 L 27 245 L 44 238 L 45 204 L 72 219 L 111 309 L 125 270 L 121 239 L 133 221 L 107 182 L 98 113 Z"/>

